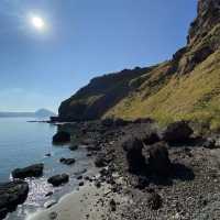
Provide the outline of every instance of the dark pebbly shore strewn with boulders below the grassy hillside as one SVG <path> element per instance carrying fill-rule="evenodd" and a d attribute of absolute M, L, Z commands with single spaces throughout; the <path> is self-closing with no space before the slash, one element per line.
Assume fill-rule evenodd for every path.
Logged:
<path fill-rule="evenodd" d="M 101 212 L 96 220 L 220 218 L 220 145 L 217 134 L 198 135 L 185 121 L 162 130 L 150 119 L 107 119 L 59 125 L 54 141 L 69 140 L 69 150 L 86 147 L 87 156 L 94 157 L 98 168 L 99 175 L 77 177 L 81 194 L 85 195 L 84 188 L 97 190 L 96 199 L 90 201 L 92 207 L 98 207 L 97 212 Z M 74 160 L 62 158 L 61 162 L 68 165 Z M 57 185 L 68 182 L 65 174 L 61 177 L 64 178 L 59 178 L 59 183 L 56 182 L 58 176 L 53 177 Z M 103 188 L 108 188 L 106 196 L 100 193 Z M 81 202 L 88 197 L 80 197 Z M 74 210 L 68 209 L 72 208 L 64 211 L 61 200 L 41 213 L 41 218 L 34 218 L 68 220 L 70 216 L 66 217 L 66 212 L 74 215 Z M 79 219 L 95 219 L 88 209 L 79 216 Z"/>

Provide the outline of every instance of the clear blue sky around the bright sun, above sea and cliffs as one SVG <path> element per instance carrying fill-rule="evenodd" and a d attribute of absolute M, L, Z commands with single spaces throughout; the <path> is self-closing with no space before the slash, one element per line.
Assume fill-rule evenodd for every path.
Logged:
<path fill-rule="evenodd" d="M 95 76 L 166 59 L 197 0 L 0 0 L 0 111 L 57 112 Z M 33 16 L 44 22 L 33 24 Z"/>

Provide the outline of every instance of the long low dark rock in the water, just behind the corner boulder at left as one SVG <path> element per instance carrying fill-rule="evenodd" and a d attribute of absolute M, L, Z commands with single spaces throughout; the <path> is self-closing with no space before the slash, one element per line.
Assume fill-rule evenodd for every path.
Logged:
<path fill-rule="evenodd" d="M 43 175 L 44 164 L 34 164 L 12 172 L 13 178 L 40 177 Z"/>

